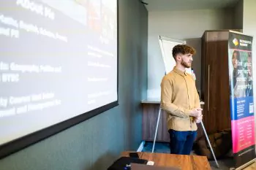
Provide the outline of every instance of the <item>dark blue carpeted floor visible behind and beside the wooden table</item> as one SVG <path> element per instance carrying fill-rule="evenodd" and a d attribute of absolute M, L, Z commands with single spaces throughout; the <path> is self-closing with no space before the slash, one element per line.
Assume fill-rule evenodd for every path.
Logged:
<path fill-rule="evenodd" d="M 152 152 L 152 148 L 153 148 L 153 142 L 146 142 L 143 147 L 143 152 Z M 157 142 L 154 147 L 154 152 L 170 153 L 169 144 L 164 142 Z M 217 161 L 219 163 L 219 169 L 222 169 L 222 170 L 230 170 L 230 167 L 232 167 L 233 165 L 233 162 L 231 159 L 217 160 Z M 215 161 L 209 161 L 209 163 L 211 165 L 211 169 L 217 170 Z"/>

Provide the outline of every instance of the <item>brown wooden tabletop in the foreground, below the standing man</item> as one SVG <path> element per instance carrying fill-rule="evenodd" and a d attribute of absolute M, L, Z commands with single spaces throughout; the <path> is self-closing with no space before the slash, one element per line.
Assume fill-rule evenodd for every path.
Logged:
<path fill-rule="evenodd" d="M 167 153 L 138 152 L 141 159 L 154 161 L 155 166 L 174 166 L 182 170 L 207 170 L 211 169 L 205 156 L 197 155 L 172 155 Z M 129 151 L 122 152 L 121 156 L 129 157 Z"/>

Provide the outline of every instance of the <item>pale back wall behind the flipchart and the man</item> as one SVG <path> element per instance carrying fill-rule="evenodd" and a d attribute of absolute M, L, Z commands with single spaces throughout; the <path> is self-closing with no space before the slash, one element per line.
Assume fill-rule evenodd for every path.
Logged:
<path fill-rule="evenodd" d="M 148 98 L 160 96 L 160 82 L 165 74 L 159 35 L 187 40 L 188 45 L 195 47 L 197 55 L 194 56 L 193 68 L 197 76 L 197 88 L 200 90 L 200 37 L 205 30 L 230 29 L 233 25 L 233 9 L 148 12 Z"/>

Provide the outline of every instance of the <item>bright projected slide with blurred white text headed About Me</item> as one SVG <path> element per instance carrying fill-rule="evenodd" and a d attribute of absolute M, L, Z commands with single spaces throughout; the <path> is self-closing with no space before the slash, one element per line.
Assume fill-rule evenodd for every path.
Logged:
<path fill-rule="evenodd" d="M 0 6 L 0 145 L 117 101 L 116 0 Z"/>

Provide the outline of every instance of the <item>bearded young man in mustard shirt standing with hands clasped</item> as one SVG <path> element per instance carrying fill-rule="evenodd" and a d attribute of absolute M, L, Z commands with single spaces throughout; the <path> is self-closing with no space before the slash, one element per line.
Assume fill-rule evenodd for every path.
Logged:
<path fill-rule="evenodd" d="M 186 73 L 194 54 L 195 49 L 188 45 L 173 47 L 176 66 L 161 82 L 161 107 L 167 112 L 171 154 L 190 154 L 197 136 L 196 123 L 203 118 L 195 80 Z"/>

